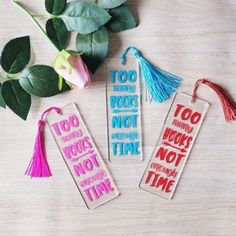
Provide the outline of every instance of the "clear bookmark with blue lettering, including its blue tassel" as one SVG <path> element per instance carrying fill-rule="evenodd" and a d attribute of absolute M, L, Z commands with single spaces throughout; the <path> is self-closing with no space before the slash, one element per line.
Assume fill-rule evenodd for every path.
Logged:
<path fill-rule="evenodd" d="M 135 60 L 126 58 L 129 51 Z M 141 80 L 148 100 L 161 103 L 181 78 L 153 66 L 135 47 L 127 47 L 120 61 L 110 59 L 106 66 L 109 160 L 142 160 Z"/>

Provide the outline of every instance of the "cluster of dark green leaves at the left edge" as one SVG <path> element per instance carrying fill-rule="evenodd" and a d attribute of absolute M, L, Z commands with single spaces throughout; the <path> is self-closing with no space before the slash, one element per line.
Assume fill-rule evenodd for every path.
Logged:
<path fill-rule="evenodd" d="M 26 120 L 31 95 L 50 97 L 67 91 L 70 87 L 63 80 L 58 88 L 58 74 L 50 66 L 28 66 L 30 61 L 30 38 L 24 36 L 10 40 L 2 50 L 1 66 L 5 75 L 0 83 L 0 106 L 8 106 L 23 120 Z"/>

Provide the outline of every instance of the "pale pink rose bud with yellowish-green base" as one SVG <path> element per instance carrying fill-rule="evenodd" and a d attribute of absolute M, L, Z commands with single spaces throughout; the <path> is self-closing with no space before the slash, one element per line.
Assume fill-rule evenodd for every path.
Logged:
<path fill-rule="evenodd" d="M 73 88 L 87 88 L 91 78 L 87 66 L 82 61 L 80 54 L 62 50 L 56 57 L 53 68 Z"/>

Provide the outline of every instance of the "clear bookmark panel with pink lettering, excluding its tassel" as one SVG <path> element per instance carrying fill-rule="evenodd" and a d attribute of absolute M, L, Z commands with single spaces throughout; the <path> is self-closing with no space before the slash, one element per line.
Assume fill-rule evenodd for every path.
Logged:
<path fill-rule="evenodd" d="M 119 192 L 75 104 L 51 112 L 46 121 L 78 190 L 89 209 L 116 198 Z"/>

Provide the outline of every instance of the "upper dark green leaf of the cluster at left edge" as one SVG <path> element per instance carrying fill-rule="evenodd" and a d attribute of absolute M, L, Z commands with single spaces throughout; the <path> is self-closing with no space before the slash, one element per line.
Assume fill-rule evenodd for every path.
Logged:
<path fill-rule="evenodd" d="M 29 36 L 12 39 L 5 45 L 1 55 L 1 65 L 4 71 L 16 74 L 22 71 L 29 61 Z"/>

